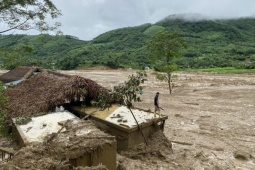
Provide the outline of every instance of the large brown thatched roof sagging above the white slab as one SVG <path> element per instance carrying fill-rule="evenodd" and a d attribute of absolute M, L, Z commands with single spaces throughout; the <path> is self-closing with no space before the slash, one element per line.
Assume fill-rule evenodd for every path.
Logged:
<path fill-rule="evenodd" d="M 53 111 L 56 106 L 80 97 L 90 102 L 100 92 L 106 89 L 93 80 L 42 71 L 7 90 L 10 102 L 7 124 L 10 125 L 11 118 Z"/>

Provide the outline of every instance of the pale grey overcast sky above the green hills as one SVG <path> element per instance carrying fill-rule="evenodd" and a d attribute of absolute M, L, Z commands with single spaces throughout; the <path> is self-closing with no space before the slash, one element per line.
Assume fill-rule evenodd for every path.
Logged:
<path fill-rule="evenodd" d="M 168 15 L 200 13 L 213 18 L 255 16 L 255 0 L 52 0 L 63 16 L 64 34 L 91 40 L 104 32 Z"/>

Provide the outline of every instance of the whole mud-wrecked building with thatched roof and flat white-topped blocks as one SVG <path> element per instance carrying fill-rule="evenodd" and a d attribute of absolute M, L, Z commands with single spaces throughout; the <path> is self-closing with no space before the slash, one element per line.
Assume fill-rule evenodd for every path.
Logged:
<path fill-rule="evenodd" d="M 19 70 L 23 71 L 22 74 Z M 19 162 L 18 160 L 21 159 L 18 155 L 22 155 L 26 148 L 30 150 L 37 148 L 45 151 L 41 154 L 42 157 L 51 159 L 55 168 L 56 165 L 63 163 L 63 167 L 102 164 L 107 169 L 116 169 L 117 149 L 127 149 L 146 142 L 146 139 L 157 129 L 163 130 L 167 119 L 167 116 L 155 118 L 149 111 L 141 109 L 132 109 L 135 117 L 130 117 L 130 110 L 123 110 L 123 106 L 119 105 L 113 105 L 105 110 L 92 107 L 91 101 L 96 100 L 100 93 L 107 93 L 107 89 L 93 80 L 80 76 L 22 67 L 3 74 L 0 80 L 3 78 L 7 85 L 14 85 L 5 93 L 9 98 L 6 124 L 12 129 L 13 138 L 24 147 L 13 156 L 11 164 L 15 166 L 18 166 L 15 161 Z M 59 118 L 57 115 L 64 118 Z M 36 119 L 42 120 L 47 116 L 52 116 L 50 119 L 53 119 L 54 123 L 49 123 L 47 121 L 49 118 L 41 124 L 35 123 Z M 93 123 L 80 119 L 84 117 L 89 117 Z M 134 123 L 134 118 L 138 122 Z M 49 130 L 46 132 L 38 131 L 47 128 Z M 44 133 L 44 135 L 38 135 L 38 138 L 31 140 L 29 133 L 32 131 L 35 131 L 34 134 Z M 32 136 L 36 135 L 32 134 Z M 60 145 L 60 141 L 65 145 Z M 49 144 L 53 148 L 61 146 L 62 149 L 58 148 L 54 153 L 65 156 L 51 157 L 51 150 L 45 149 Z M 39 146 L 44 149 L 39 149 Z M 72 152 L 74 148 L 77 152 Z M 37 151 L 31 152 L 37 153 Z M 30 157 L 34 159 L 33 156 Z M 39 158 L 33 162 L 38 160 Z M 42 168 L 39 165 L 37 169 Z"/>

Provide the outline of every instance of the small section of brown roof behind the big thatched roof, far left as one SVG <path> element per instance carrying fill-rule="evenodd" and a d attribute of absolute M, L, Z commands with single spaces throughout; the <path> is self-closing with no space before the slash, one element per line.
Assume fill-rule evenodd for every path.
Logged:
<path fill-rule="evenodd" d="M 9 83 L 17 80 L 25 80 L 33 75 L 33 72 L 39 71 L 40 69 L 37 67 L 18 67 L 13 70 L 8 71 L 0 76 L 0 81 L 4 83 Z"/>

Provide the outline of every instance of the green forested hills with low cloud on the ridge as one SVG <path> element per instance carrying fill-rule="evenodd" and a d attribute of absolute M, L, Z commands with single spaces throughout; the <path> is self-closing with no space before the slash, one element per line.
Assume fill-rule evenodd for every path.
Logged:
<path fill-rule="evenodd" d="M 157 32 L 177 31 L 188 48 L 180 68 L 255 67 L 255 18 L 206 20 L 199 15 L 171 15 L 155 24 L 112 30 L 92 41 L 70 35 L 0 35 L 0 60 L 21 54 L 23 65 L 73 69 L 106 65 L 142 69 L 150 66 L 145 42 Z M 25 63 L 24 63 L 25 62 Z M 15 62 L 14 62 L 15 63 Z M 12 67 L 9 65 L 9 67 Z"/>

